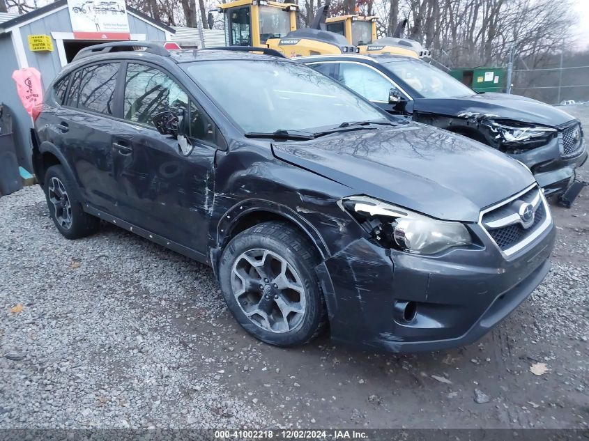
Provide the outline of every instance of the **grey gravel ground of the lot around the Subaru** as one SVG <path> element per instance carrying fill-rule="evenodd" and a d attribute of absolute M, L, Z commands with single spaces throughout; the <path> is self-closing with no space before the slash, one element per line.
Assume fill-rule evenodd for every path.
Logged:
<path fill-rule="evenodd" d="M 395 356 L 259 343 L 209 268 L 112 225 L 66 240 L 26 187 L 0 198 L 0 428 L 588 428 L 588 212 L 587 188 L 553 207 L 553 270 L 479 343 Z"/>

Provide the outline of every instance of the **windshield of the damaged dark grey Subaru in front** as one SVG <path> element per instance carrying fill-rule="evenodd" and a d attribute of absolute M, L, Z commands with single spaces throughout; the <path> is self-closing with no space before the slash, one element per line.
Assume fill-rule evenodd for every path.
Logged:
<path fill-rule="evenodd" d="M 187 70 L 245 132 L 309 130 L 388 119 L 344 86 L 292 61 L 201 61 Z"/>

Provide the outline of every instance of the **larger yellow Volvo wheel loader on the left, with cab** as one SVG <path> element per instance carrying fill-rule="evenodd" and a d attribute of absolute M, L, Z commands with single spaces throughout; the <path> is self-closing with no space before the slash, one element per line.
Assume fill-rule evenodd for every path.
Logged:
<path fill-rule="evenodd" d="M 296 29 L 298 6 L 293 3 L 236 0 L 216 10 L 224 15 L 228 46 L 269 47 L 291 58 L 358 52 L 344 36 L 325 30 L 326 6 L 319 8 L 312 28 L 305 29 Z"/>

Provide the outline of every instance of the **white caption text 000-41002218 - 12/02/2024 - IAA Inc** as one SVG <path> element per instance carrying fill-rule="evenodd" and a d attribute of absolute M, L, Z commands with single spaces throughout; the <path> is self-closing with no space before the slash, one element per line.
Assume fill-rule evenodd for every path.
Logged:
<path fill-rule="evenodd" d="M 217 439 L 277 439 L 277 440 L 363 440 L 368 435 L 357 430 L 237 430 L 215 431 Z"/>

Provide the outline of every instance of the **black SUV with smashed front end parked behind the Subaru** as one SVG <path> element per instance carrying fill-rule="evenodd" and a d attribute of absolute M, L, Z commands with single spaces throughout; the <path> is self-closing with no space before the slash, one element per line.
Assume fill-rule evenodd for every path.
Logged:
<path fill-rule="evenodd" d="M 305 56 L 391 114 L 464 134 L 530 168 L 546 195 L 562 194 L 587 160 L 578 120 L 519 95 L 476 93 L 424 61 L 399 55 Z"/>

